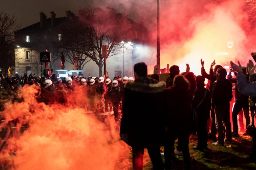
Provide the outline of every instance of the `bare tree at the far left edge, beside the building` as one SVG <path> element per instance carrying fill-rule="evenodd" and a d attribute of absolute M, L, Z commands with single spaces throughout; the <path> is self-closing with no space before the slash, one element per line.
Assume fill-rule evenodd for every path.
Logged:
<path fill-rule="evenodd" d="M 0 71 L 4 75 L 15 64 L 13 33 L 20 28 L 20 25 L 16 25 L 15 21 L 14 15 L 0 12 Z"/>

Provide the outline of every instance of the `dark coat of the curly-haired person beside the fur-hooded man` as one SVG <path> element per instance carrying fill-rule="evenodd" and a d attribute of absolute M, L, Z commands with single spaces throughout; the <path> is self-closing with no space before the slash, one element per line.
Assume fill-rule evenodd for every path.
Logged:
<path fill-rule="evenodd" d="M 172 86 L 164 92 L 167 102 L 167 128 L 171 136 L 191 134 L 192 129 L 192 95 L 189 89 Z"/>

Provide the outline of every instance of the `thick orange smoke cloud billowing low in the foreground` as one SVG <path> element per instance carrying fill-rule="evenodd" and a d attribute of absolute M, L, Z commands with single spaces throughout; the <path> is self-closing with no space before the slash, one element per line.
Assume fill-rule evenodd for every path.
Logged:
<path fill-rule="evenodd" d="M 18 120 L 9 135 L 0 140 L 6 143 L 0 152 L 2 169 L 128 169 L 130 149 L 119 140 L 119 126 L 114 117 L 107 126 L 94 114 L 78 105 L 86 96 L 77 90 L 69 100 L 75 105 L 37 103 L 36 86 L 22 90 L 24 102 L 6 103 L 1 114 L 8 126 L 10 119 Z M 8 126 L 8 127 L 10 127 Z M 25 130 L 24 130 L 25 129 Z M 21 132 L 23 131 L 23 132 Z"/>

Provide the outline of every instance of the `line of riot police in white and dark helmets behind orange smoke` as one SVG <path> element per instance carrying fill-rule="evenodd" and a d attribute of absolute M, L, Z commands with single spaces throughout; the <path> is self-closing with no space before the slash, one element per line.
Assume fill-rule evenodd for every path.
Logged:
<path fill-rule="evenodd" d="M 25 74 L 23 77 L 15 75 L 15 77 L 0 77 L 0 99 L 3 99 L 3 94 L 12 94 L 12 98 L 19 99 L 22 87 L 26 84 L 38 87 L 38 102 L 45 104 L 61 103 L 67 104 L 72 102 L 67 96 L 80 93 L 84 94 L 86 100 L 85 106 L 87 110 L 95 113 L 105 113 L 114 111 L 115 120 L 120 120 L 122 113 L 122 103 L 124 97 L 124 85 L 127 81 L 133 81 L 133 77 L 114 77 L 113 80 L 103 77 L 57 77 L 56 74 L 52 76 L 36 77 L 35 75 Z M 40 88 L 39 88 L 40 87 Z M 78 92 L 79 91 L 79 92 Z M 15 97 L 13 97 L 15 96 Z"/>

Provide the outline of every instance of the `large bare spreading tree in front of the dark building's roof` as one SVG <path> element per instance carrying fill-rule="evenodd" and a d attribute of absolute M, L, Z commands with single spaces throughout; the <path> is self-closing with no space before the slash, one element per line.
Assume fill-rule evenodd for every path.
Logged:
<path fill-rule="evenodd" d="M 122 14 L 106 12 L 100 8 L 85 7 L 79 9 L 78 17 L 62 27 L 63 45 L 93 60 L 102 75 L 104 58 L 102 45 L 108 45 L 108 56 L 120 53 L 131 40 L 131 25 L 128 17 Z"/>

